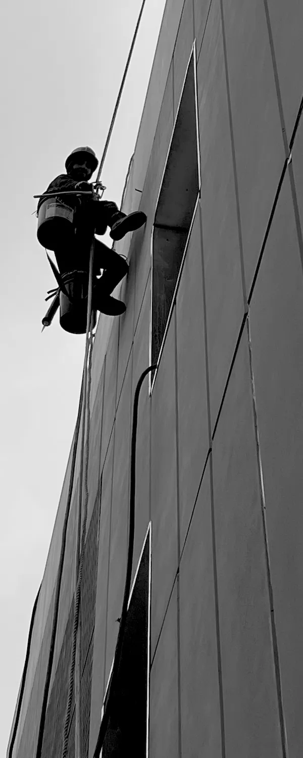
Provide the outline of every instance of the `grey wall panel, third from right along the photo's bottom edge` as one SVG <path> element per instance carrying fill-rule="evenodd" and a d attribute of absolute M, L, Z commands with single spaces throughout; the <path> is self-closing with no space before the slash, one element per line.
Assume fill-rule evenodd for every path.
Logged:
<path fill-rule="evenodd" d="M 220 756 L 209 463 L 180 562 L 180 697 L 186 758 Z"/>

